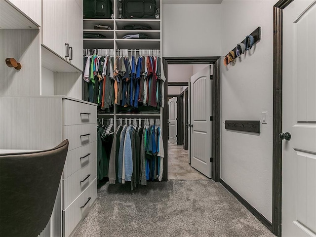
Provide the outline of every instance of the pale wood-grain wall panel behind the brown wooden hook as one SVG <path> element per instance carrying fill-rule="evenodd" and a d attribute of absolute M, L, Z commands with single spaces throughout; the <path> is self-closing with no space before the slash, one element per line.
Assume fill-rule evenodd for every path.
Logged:
<path fill-rule="evenodd" d="M 40 95 L 39 55 L 39 30 L 0 30 L 0 95 Z M 7 67 L 6 58 L 15 58 L 21 70 Z"/>

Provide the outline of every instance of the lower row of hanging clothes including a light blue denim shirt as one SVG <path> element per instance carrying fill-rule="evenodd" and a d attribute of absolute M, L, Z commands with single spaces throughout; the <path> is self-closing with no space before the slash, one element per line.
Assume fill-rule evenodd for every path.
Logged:
<path fill-rule="evenodd" d="M 148 181 L 162 180 L 163 141 L 160 121 L 145 119 L 141 123 L 124 125 L 120 120 L 113 133 L 113 142 L 108 143 L 110 184 L 130 182 L 131 190 Z M 110 148 L 111 145 L 111 148 Z"/>

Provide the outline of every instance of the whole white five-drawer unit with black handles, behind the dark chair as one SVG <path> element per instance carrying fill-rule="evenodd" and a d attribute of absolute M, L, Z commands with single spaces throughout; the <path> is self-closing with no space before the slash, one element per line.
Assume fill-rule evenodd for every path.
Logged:
<path fill-rule="evenodd" d="M 45 150 L 69 140 L 53 213 L 45 232 L 40 235 L 69 237 L 97 197 L 97 105 L 66 96 L 0 98 L 2 151 Z M 88 113 L 88 118 L 84 119 L 82 115 L 80 118 L 80 113 Z M 27 125 L 14 126 L 20 124 L 22 117 Z M 89 197 L 89 202 L 84 205 Z M 62 219 L 62 213 L 66 219 Z"/>

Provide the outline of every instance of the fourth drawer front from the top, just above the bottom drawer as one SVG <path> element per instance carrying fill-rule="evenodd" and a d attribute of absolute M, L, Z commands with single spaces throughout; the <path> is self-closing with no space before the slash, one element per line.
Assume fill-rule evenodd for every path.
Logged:
<path fill-rule="evenodd" d="M 64 207 L 67 208 L 97 177 L 97 159 L 79 169 L 64 182 Z"/>

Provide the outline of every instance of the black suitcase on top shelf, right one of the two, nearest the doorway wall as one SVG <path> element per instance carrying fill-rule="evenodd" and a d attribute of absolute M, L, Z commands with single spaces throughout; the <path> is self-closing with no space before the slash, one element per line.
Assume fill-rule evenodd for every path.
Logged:
<path fill-rule="evenodd" d="M 122 18 L 156 19 L 156 0 L 122 0 Z"/>

